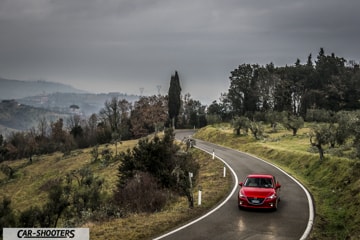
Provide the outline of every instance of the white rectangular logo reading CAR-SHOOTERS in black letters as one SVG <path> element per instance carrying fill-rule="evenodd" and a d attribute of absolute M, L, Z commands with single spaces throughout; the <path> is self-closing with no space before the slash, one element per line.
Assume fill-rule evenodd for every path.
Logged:
<path fill-rule="evenodd" d="M 3 240 L 89 240 L 88 228 L 4 228 Z"/>

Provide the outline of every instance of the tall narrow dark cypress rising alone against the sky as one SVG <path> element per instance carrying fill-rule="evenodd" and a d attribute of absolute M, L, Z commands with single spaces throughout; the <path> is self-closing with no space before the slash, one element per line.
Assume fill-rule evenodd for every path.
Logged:
<path fill-rule="evenodd" d="M 177 71 L 175 75 L 171 76 L 170 87 L 168 92 L 168 108 L 169 108 L 169 118 L 172 122 L 172 127 L 175 128 L 175 120 L 180 112 L 181 107 L 181 87 L 180 80 Z"/>

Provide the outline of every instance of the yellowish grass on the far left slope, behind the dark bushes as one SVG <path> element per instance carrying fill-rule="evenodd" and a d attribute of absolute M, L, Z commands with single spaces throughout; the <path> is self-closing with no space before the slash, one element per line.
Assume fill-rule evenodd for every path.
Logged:
<path fill-rule="evenodd" d="M 118 145 L 118 151 L 124 151 L 135 146 L 137 141 L 125 141 Z M 104 148 L 110 148 L 115 153 L 114 145 L 100 146 L 99 152 Z M 28 159 L 17 161 L 5 161 L 6 164 L 16 169 L 13 179 L 8 180 L 7 176 L 0 175 L 1 196 L 11 196 L 13 208 L 21 211 L 33 206 L 34 203 L 41 205 L 46 201 L 47 192 L 41 190 L 44 185 L 56 179 L 64 178 L 67 173 L 79 170 L 84 166 L 90 166 L 96 176 L 105 179 L 105 188 L 111 190 L 117 181 L 117 165 L 111 163 L 109 166 L 101 164 L 90 164 L 92 148 L 75 150 L 70 155 L 56 152 L 49 155 L 33 157 L 33 163 L 29 164 Z"/>

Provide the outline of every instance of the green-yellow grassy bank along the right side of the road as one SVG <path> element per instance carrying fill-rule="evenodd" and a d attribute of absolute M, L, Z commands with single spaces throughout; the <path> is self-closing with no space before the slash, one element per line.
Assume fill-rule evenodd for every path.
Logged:
<path fill-rule="evenodd" d="M 236 136 L 229 125 L 209 126 L 196 138 L 238 149 L 272 162 L 302 182 L 315 200 L 311 239 L 360 239 L 360 160 L 331 156 L 310 148 L 308 128 L 266 133 L 262 141 Z M 329 151 L 329 149 L 327 149 Z"/>

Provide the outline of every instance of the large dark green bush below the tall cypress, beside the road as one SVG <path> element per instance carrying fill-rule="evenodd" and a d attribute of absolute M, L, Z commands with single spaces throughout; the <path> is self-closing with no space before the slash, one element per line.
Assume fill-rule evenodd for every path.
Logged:
<path fill-rule="evenodd" d="M 151 141 L 147 138 L 142 139 L 132 151 L 128 149 L 127 152 L 121 152 L 119 154 L 121 164 L 118 168 L 118 192 L 126 194 L 128 191 L 131 192 L 132 188 L 137 188 L 136 184 L 138 183 L 134 183 L 134 179 L 139 177 L 139 172 L 146 172 L 154 178 L 160 188 L 171 189 L 171 191 L 176 189 L 179 195 L 187 196 L 190 206 L 192 206 L 192 191 L 188 176 L 191 172 L 193 179 L 197 178 L 199 164 L 193 159 L 191 153 L 179 151 L 179 146 L 173 142 L 174 134 L 172 129 L 168 129 L 162 139 L 158 136 Z M 130 189 L 125 190 L 126 188 Z M 158 189 L 159 187 L 155 189 L 156 193 L 159 193 Z M 143 191 L 141 186 L 139 191 Z M 128 196 L 126 199 L 132 197 L 135 196 Z M 131 208 L 136 209 L 134 206 Z"/>

